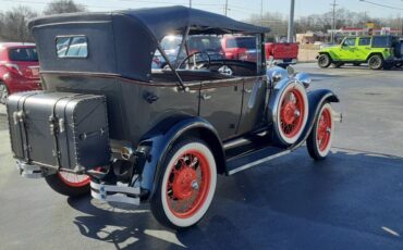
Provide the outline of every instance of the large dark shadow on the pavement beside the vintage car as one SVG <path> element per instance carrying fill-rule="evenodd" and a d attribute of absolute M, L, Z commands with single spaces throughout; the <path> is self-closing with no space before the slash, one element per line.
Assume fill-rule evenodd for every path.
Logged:
<path fill-rule="evenodd" d="M 220 177 L 200 223 L 160 226 L 148 205 L 69 199 L 86 215 L 82 235 L 123 248 L 402 249 L 403 159 L 337 152 L 314 162 L 300 149 L 231 177 Z"/>

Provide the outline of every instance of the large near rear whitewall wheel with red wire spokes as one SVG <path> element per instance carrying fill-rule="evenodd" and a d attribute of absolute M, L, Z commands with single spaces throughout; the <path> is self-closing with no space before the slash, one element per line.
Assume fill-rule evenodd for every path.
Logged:
<path fill-rule="evenodd" d="M 151 212 L 172 229 L 191 227 L 206 214 L 216 184 L 216 160 L 208 146 L 196 138 L 182 140 L 169 151 L 162 165 Z"/>

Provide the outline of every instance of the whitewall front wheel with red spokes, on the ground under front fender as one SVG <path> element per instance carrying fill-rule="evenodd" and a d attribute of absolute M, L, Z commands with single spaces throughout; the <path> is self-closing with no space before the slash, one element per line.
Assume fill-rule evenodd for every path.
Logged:
<path fill-rule="evenodd" d="M 329 103 L 325 103 L 315 120 L 313 130 L 306 140 L 309 155 L 317 160 L 323 160 L 330 152 L 334 134 L 334 121 L 332 109 Z"/>

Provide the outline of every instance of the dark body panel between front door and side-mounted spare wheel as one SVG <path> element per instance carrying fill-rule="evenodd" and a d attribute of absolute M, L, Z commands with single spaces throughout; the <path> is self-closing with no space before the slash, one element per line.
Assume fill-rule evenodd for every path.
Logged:
<path fill-rule="evenodd" d="M 247 134 L 262 126 L 266 84 L 261 76 L 244 78 L 242 117 L 237 134 Z"/>

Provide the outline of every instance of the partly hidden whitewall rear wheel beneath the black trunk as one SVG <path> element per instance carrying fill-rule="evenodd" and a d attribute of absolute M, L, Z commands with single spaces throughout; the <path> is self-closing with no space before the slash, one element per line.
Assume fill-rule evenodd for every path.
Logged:
<path fill-rule="evenodd" d="M 90 191 L 90 178 L 87 175 L 58 172 L 57 174 L 46 176 L 45 180 L 51 189 L 68 197 L 82 197 Z"/>

